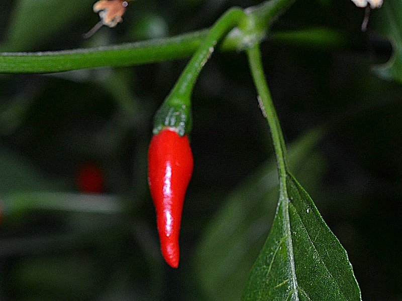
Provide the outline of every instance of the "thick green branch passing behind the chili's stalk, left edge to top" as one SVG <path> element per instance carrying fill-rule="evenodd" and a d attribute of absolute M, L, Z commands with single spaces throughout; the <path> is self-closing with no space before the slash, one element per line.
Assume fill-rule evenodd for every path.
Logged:
<path fill-rule="evenodd" d="M 275 17 L 294 0 L 271 0 L 246 9 L 256 32 L 236 28 L 222 42 L 220 50 L 237 51 L 262 40 Z M 108 47 L 75 49 L 56 52 L 2 53 L 0 73 L 51 73 L 105 66 L 133 66 L 190 57 L 195 53 L 209 30 L 197 31 L 172 38 L 126 43 Z M 251 41 L 251 42 L 250 42 Z"/>

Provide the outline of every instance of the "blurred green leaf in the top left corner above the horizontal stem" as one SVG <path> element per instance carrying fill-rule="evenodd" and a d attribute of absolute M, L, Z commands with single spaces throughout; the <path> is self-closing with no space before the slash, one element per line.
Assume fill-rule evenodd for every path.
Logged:
<path fill-rule="evenodd" d="M 7 51 L 27 51 L 46 42 L 69 23 L 92 13 L 93 0 L 19 0 L 2 46 Z"/>

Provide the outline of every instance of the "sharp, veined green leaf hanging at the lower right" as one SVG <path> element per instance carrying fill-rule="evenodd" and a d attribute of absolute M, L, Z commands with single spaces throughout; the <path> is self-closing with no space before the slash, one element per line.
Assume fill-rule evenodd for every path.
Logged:
<path fill-rule="evenodd" d="M 243 300 L 361 300 L 345 249 L 290 174 L 286 192 Z"/>

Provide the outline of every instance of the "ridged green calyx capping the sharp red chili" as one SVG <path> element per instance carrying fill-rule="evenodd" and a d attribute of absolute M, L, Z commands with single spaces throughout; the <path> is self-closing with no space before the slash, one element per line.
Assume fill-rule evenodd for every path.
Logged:
<path fill-rule="evenodd" d="M 180 136 L 189 134 L 192 127 L 190 104 L 165 101 L 155 114 L 152 132 L 156 135 L 165 127 L 174 128 Z"/>

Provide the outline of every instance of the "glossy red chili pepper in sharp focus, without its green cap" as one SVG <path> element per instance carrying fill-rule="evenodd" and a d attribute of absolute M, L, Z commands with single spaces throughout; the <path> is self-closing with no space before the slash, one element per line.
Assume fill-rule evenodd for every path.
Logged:
<path fill-rule="evenodd" d="M 148 183 L 156 209 L 162 255 L 179 265 L 179 231 L 184 196 L 193 169 L 188 136 L 164 128 L 152 137 L 148 152 Z"/>

